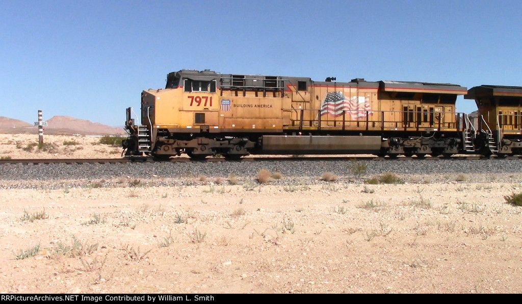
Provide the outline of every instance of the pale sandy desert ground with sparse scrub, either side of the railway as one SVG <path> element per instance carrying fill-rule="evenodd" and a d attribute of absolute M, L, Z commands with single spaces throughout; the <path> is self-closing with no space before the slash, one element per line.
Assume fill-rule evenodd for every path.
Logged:
<path fill-rule="evenodd" d="M 23 136 L 0 135 L 0 155 L 120 157 Z M 504 198 L 522 173 L 290 178 L 1 181 L 0 292 L 522 292 L 522 207 Z"/>

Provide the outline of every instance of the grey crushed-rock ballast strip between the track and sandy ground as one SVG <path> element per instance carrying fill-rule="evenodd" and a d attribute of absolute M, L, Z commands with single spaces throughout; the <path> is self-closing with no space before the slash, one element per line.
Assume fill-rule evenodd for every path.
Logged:
<path fill-rule="evenodd" d="M 257 172 L 268 169 L 287 177 L 277 183 L 293 183 L 309 180 L 315 183 L 324 172 L 332 172 L 342 180 L 352 179 L 355 163 L 366 165 L 363 177 L 369 178 L 384 172 L 393 172 L 409 182 L 423 182 L 418 175 L 440 176 L 451 179 L 465 174 L 466 180 L 514 181 L 520 172 L 520 160 L 385 160 L 385 161 L 259 161 L 259 162 L 147 162 L 117 164 L 48 164 L 1 166 L 0 179 L 4 181 L 58 181 L 58 180 L 110 180 L 120 177 L 134 179 L 180 179 L 205 175 L 226 178 L 235 174 L 239 178 L 255 177 Z M 495 175 L 495 176 L 493 176 Z M 436 179 L 436 178 L 435 178 Z M 431 181 L 434 181 L 433 179 Z M 5 183 L 4 183 L 5 184 Z"/>

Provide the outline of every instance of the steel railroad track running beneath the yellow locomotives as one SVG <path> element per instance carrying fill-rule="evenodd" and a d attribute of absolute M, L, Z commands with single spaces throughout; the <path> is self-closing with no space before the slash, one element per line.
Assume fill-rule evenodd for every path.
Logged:
<path fill-rule="evenodd" d="M 363 156 L 363 157 L 350 157 L 350 156 L 335 156 L 335 157 L 328 157 L 328 156 L 307 156 L 307 157 L 244 157 L 240 160 L 233 160 L 233 161 L 323 161 L 323 160 L 366 160 L 366 161 L 404 161 L 404 160 L 479 160 L 479 159 L 499 159 L 498 157 L 492 156 L 492 157 L 484 157 L 484 156 L 478 156 L 478 155 L 469 155 L 469 156 L 452 156 L 450 158 L 444 158 L 444 157 L 424 157 L 424 158 L 418 158 L 418 157 L 397 157 L 397 158 L 389 158 L 389 157 L 376 157 L 376 156 Z M 522 159 L 522 156 L 508 156 L 502 159 Z M 75 164 L 82 164 L 82 163 L 129 163 L 129 162 L 222 162 L 222 161 L 228 161 L 224 158 L 216 157 L 212 158 L 209 157 L 204 160 L 191 160 L 189 158 L 171 158 L 169 160 L 156 160 L 151 157 L 126 157 L 126 158 L 86 158 L 86 159 L 61 159 L 61 158 L 53 158 L 53 159 L 1 159 L 0 165 L 7 164 L 7 163 L 23 163 L 26 165 L 33 164 L 50 164 L 50 163 L 65 163 L 67 165 L 75 165 Z"/>

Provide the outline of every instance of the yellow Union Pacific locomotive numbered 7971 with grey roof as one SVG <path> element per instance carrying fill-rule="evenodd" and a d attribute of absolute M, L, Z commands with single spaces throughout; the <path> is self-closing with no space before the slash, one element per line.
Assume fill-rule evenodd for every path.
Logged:
<path fill-rule="evenodd" d="M 336 80 L 208 70 L 170 73 L 164 89 L 141 93 L 141 123 L 127 109 L 126 155 L 423 157 L 474 153 L 483 143 L 468 116 L 456 113 L 456 98 L 467 93 L 466 87 Z"/>

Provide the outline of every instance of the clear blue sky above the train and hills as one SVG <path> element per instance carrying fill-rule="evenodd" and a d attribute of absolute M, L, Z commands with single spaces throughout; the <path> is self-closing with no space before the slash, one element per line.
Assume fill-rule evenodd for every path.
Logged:
<path fill-rule="evenodd" d="M 515 0 L 2 0 L 0 116 L 123 125 L 141 90 L 183 68 L 522 86 L 520 11 Z"/>

